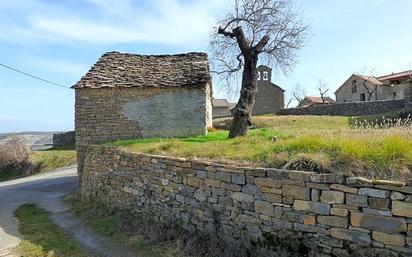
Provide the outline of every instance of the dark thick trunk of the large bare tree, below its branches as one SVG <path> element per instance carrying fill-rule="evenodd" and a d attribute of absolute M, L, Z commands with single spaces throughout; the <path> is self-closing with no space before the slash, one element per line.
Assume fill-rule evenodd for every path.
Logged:
<path fill-rule="evenodd" d="M 257 94 L 257 56 L 244 56 L 242 88 L 239 101 L 233 110 L 233 121 L 229 138 L 245 136 L 252 125 L 251 116 Z"/>

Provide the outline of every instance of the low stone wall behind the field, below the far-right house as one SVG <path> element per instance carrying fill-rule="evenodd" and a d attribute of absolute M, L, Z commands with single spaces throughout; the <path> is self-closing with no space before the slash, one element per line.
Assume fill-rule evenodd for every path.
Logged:
<path fill-rule="evenodd" d="M 280 115 L 339 115 L 362 116 L 374 115 L 402 109 L 405 100 L 385 100 L 373 102 L 335 103 L 328 105 L 311 106 L 304 108 L 283 109 Z"/>

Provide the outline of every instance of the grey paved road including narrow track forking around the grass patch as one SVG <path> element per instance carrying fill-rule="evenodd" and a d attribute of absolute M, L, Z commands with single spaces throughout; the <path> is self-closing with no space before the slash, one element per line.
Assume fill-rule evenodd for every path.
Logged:
<path fill-rule="evenodd" d="M 76 167 L 0 183 L 0 257 L 13 257 L 9 250 L 22 236 L 13 212 L 22 204 L 35 203 L 51 212 L 51 219 L 95 257 L 135 257 L 129 249 L 99 237 L 74 217 L 63 196 L 76 188 Z"/>

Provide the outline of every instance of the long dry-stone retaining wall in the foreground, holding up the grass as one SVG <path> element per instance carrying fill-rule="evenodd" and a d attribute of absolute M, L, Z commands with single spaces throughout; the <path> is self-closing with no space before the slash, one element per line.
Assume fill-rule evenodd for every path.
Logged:
<path fill-rule="evenodd" d="M 336 174 L 222 165 L 90 146 L 83 200 L 150 209 L 188 230 L 293 234 L 331 256 L 359 247 L 412 254 L 412 187 Z M 217 222 L 216 222 L 217 221 Z"/>

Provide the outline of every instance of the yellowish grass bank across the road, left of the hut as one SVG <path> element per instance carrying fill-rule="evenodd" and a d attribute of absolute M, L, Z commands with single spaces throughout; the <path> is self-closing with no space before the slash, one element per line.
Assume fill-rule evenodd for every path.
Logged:
<path fill-rule="evenodd" d="M 30 171 L 16 167 L 6 167 L 0 170 L 0 182 L 74 165 L 76 164 L 76 151 L 54 149 L 34 151 L 31 153 L 30 160 L 33 162 Z"/>

